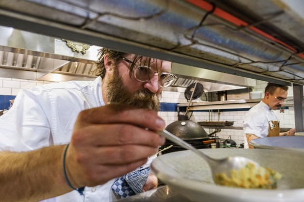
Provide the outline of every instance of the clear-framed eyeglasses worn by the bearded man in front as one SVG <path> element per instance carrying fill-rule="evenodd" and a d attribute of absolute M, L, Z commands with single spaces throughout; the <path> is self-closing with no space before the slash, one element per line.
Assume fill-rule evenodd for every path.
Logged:
<path fill-rule="evenodd" d="M 128 63 L 133 63 L 132 61 L 128 60 L 127 58 L 122 57 L 122 59 Z M 140 82 L 147 82 L 150 81 L 150 79 L 157 74 L 158 75 L 158 85 L 160 87 L 169 87 L 171 86 L 176 80 L 177 76 L 169 73 L 169 72 L 161 72 L 158 73 L 157 71 L 154 71 L 151 67 L 138 65 L 134 67 L 134 77 L 140 81 Z"/>

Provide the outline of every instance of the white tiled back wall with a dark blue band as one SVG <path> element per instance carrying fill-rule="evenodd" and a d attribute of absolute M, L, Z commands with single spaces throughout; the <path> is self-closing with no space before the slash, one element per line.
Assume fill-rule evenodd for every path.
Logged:
<path fill-rule="evenodd" d="M 43 85 L 46 83 L 51 83 L 47 81 L 35 81 L 35 80 L 25 80 L 25 79 L 14 79 L 14 78 L 0 78 L 0 110 L 8 109 L 9 100 L 14 98 L 21 89 L 28 89 L 33 86 Z M 267 83 L 264 81 L 257 81 L 256 88 L 254 91 L 264 91 Z M 264 95 L 263 95 L 264 96 Z M 288 96 L 293 96 L 292 88 L 288 90 Z M 198 99 L 200 100 L 200 99 Z M 195 100 L 194 100 L 195 101 Z M 159 115 L 165 120 L 166 124 L 170 124 L 177 120 L 177 111 L 174 104 L 177 103 L 187 103 L 182 92 L 171 92 L 163 91 L 162 93 L 162 106 L 165 111 L 159 112 Z M 193 121 L 234 121 L 234 127 L 242 127 L 243 119 L 245 113 L 248 111 L 244 109 L 240 110 L 225 110 L 218 114 L 217 110 L 213 112 L 203 111 L 203 112 L 193 112 L 191 120 Z M 294 120 L 294 108 L 289 107 L 285 109 L 284 113 L 279 113 L 276 111 L 278 118 L 280 120 L 280 126 L 283 128 L 293 128 L 295 127 Z M 205 129 L 209 134 L 214 131 L 214 129 Z M 217 133 L 220 138 L 228 138 L 231 135 L 238 145 L 244 142 L 243 130 L 222 130 Z"/>

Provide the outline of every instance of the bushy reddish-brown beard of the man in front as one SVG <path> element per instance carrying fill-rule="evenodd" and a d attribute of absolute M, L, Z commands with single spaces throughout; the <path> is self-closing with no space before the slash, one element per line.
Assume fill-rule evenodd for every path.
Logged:
<path fill-rule="evenodd" d="M 124 103 L 142 109 L 154 110 L 155 112 L 159 111 L 161 94 L 156 95 L 150 90 L 130 93 L 122 82 L 122 78 L 117 70 L 109 75 L 105 95 L 108 102 Z"/>

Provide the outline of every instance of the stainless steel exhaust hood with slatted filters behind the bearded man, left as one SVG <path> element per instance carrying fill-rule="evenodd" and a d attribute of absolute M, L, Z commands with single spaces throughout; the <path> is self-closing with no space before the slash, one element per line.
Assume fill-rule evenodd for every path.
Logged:
<path fill-rule="evenodd" d="M 47 81 L 95 77 L 92 70 L 99 46 L 91 45 L 82 54 L 53 37 L 3 26 L 0 33 L 0 77 Z"/>

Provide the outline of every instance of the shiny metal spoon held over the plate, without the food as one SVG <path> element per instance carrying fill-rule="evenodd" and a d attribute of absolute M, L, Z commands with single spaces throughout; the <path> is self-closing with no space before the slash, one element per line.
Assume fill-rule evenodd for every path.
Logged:
<path fill-rule="evenodd" d="M 217 174 L 226 173 L 227 176 L 230 176 L 232 170 L 240 170 L 240 169 L 244 168 L 248 163 L 252 163 L 255 165 L 255 168 L 262 169 L 262 172 L 268 173 L 266 168 L 261 167 L 257 162 L 255 162 L 249 158 L 226 157 L 226 158 L 222 158 L 222 159 L 215 159 L 215 158 L 212 158 L 212 157 L 209 157 L 209 156 L 203 154 L 203 152 L 201 152 L 200 150 L 197 150 L 192 145 L 188 144 L 184 140 L 180 139 L 176 135 L 173 135 L 172 133 L 170 133 L 166 130 L 160 131 L 158 134 L 164 136 L 168 140 L 178 144 L 179 146 L 181 146 L 185 149 L 193 151 L 194 153 L 198 154 L 200 157 L 203 157 L 203 159 L 205 159 L 207 161 L 207 163 L 209 164 L 209 166 L 211 168 L 212 177 L 213 177 L 213 180 L 215 181 L 215 183 L 219 183 L 217 178 L 215 177 Z M 275 180 L 272 178 L 272 176 L 270 176 L 270 177 L 271 177 L 272 183 L 275 183 Z"/>

